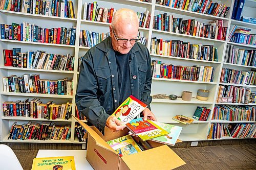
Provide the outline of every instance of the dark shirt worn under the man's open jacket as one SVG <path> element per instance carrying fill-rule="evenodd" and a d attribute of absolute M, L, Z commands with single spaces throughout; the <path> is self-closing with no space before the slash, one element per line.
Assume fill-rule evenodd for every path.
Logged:
<path fill-rule="evenodd" d="M 129 75 L 130 53 L 121 54 L 115 51 L 119 87 L 119 105 L 131 95 L 131 81 Z"/>

